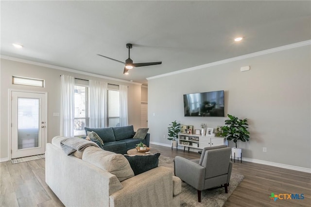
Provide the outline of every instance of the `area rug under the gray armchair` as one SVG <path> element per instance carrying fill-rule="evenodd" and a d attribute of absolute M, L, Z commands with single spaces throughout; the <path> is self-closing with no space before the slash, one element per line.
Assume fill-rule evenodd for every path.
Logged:
<path fill-rule="evenodd" d="M 159 166 L 164 166 L 174 171 L 173 158 L 162 156 L 159 157 Z M 202 190 L 201 203 L 198 202 L 197 190 L 187 183 L 182 182 L 180 194 L 181 207 L 222 207 L 228 200 L 232 192 L 242 182 L 244 175 L 231 173 L 228 193 L 225 193 L 225 188 L 217 188 L 213 190 Z"/>

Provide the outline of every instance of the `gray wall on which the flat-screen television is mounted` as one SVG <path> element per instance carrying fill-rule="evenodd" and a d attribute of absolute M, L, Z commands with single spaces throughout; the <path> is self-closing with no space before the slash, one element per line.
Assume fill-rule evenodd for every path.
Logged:
<path fill-rule="evenodd" d="M 227 118 L 184 117 L 183 94 L 225 90 L 225 114 L 249 120 L 250 141 L 238 142 L 243 157 L 310 169 L 310 51 L 310 45 L 303 46 L 149 79 L 151 140 L 170 144 L 167 127 L 174 120 L 195 129 L 201 123 L 224 125 Z M 251 70 L 241 72 L 242 66 Z"/>

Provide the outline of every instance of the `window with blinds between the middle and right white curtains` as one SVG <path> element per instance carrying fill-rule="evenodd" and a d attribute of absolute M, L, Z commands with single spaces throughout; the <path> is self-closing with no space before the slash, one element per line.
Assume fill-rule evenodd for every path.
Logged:
<path fill-rule="evenodd" d="M 120 92 L 108 90 L 107 96 L 107 127 L 120 126 Z"/>

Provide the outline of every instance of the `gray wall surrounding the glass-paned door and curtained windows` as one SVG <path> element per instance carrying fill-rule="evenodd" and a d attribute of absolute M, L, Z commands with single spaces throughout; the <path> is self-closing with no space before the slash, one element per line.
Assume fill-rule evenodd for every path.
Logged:
<path fill-rule="evenodd" d="M 88 76 L 84 74 L 52 69 L 32 64 L 16 62 L 7 59 L 1 59 L 1 131 L 0 131 L 0 159 L 8 157 L 8 120 L 9 120 L 9 89 L 20 89 L 30 91 L 46 91 L 48 92 L 48 142 L 51 142 L 54 136 L 59 135 L 60 117 L 53 117 L 53 112 L 60 112 L 60 75 L 67 74 L 75 78 L 101 80 L 109 84 L 127 85 L 128 86 L 128 121 L 130 125 L 134 125 L 134 129 L 140 127 L 140 100 L 141 86 L 137 84 L 119 82 L 115 80 L 107 80 L 99 77 Z M 38 78 L 45 80 L 45 88 L 34 86 L 12 85 L 12 75 Z"/>

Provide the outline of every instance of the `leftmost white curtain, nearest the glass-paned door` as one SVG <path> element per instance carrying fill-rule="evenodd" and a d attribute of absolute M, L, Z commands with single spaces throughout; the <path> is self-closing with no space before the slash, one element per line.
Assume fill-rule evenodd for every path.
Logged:
<path fill-rule="evenodd" d="M 74 77 L 61 76 L 60 136 L 73 137 Z"/>

